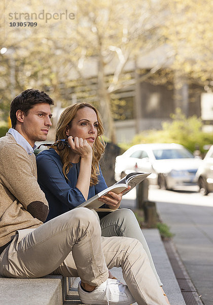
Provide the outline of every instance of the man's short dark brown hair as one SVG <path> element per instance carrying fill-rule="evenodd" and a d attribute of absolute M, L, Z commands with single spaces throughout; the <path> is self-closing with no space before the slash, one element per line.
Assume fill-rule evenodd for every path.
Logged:
<path fill-rule="evenodd" d="M 10 119 L 12 128 L 16 127 L 16 111 L 21 110 L 25 115 L 28 111 L 36 104 L 48 103 L 49 105 L 54 105 L 53 100 L 44 91 L 39 91 L 38 89 L 27 89 L 20 93 L 10 105 Z"/>

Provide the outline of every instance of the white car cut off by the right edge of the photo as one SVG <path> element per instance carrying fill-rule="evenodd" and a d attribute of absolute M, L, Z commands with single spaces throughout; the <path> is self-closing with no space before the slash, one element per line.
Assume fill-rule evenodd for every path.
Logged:
<path fill-rule="evenodd" d="M 200 164 L 196 177 L 202 195 L 208 195 L 209 192 L 213 192 L 213 145 L 209 148 Z"/>

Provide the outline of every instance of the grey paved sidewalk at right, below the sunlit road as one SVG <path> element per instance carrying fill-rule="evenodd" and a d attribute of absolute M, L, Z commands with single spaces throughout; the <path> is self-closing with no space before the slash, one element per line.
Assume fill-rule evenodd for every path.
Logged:
<path fill-rule="evenodd" d="M 174 233 L 175 248 L 200 299 L 213 305 L 213 208 L 158 202 L 157 210 Z"/>

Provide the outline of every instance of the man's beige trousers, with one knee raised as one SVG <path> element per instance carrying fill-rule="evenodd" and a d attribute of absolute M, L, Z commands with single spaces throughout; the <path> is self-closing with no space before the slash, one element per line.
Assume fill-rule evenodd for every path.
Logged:
<path fill-rule="evenodd" d="M 108 268 L 122 267 L 138 305 L 166 305 L 141 243 L 127 237 L 101 237 L 97 217 L 77 208 L 37 229 L 20 230 L 0 256 L 0 274 L 9 278 L 40 278 L 50 273 L 79 276 L 98 286 Z"/>

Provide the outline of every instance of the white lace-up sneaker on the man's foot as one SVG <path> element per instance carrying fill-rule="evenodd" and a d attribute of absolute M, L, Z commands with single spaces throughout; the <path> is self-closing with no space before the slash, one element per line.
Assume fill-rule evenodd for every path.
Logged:
<path fill-rule="evenodd" d="M 108 279 L 100 286 L 97 286 L 92 292 L 84 291 L 81 288 L 80 281 L 78 292 L 83 304 L 130 305 L 131 303 L 135 302 L 127 285 L 124 285 L 120 281 L 114 279 Z"/>

